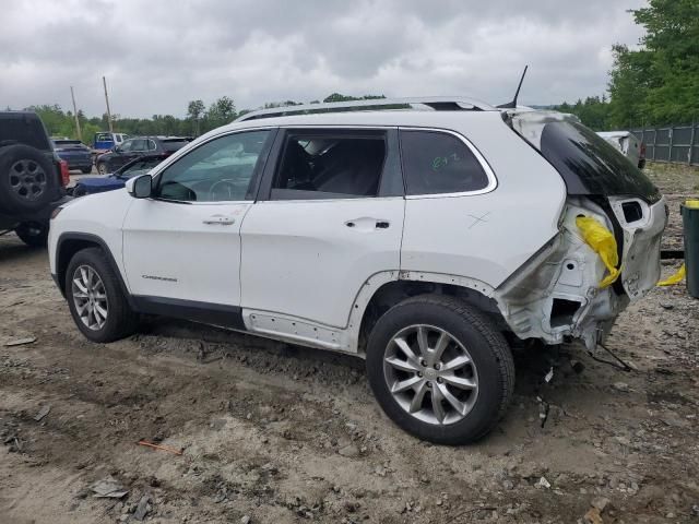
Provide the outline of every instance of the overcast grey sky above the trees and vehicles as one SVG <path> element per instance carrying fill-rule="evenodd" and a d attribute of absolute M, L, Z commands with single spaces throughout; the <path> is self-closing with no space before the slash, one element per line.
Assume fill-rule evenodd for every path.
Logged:
<path fill-rule="evenodd" d="M 183 116 L 330 93 L 511 98 L 601 95 L 611 46 L 642 32 L 643 0 L 10 0 L 2 2 L 0 107 L 59 104 L 88 116 Z"/>

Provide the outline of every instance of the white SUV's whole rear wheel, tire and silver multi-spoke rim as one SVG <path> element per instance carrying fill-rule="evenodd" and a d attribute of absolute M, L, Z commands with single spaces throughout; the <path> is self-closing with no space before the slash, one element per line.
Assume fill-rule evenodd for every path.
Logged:
<path fill-rule="evenodd" d="M 379 319 L 367 372 L 383 412 L 405 431 L 439 444 L 487 434 L 514 389 L 502 334 L 467 303 L 441 295 L 408 298 Z"/>

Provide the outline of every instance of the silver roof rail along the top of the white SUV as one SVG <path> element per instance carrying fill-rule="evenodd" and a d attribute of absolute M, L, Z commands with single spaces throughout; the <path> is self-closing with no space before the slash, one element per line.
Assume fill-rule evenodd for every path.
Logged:
<path fill-rule="evenodd" d="M 341 112 L 346 110 L 381 110 L 407 109 L 415 106 L 430 108 L 436 111 L 493 111 L 497 108 L 466 97 L 454 96 L 424 96 L 411 98 L 371 98 L 368 100 L 330 102 L 324 104 L 301 104 L 298 106 L 282 106 L 270 109 L 258 109 L 246 112 L 235 121 L 257 120 L 260 118 L 286 117 L 291 115 L 308 115 L 313 112 Z"/>

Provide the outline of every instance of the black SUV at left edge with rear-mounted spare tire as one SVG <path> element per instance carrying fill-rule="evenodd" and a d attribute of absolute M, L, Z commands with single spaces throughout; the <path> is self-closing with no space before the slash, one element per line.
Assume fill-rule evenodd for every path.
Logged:
<path fill-rule="evenodd" d="M 54 209 L 63 203 L 68 164 L 32 111 L 0 111 L 0 235 L 45 246 Z"/>

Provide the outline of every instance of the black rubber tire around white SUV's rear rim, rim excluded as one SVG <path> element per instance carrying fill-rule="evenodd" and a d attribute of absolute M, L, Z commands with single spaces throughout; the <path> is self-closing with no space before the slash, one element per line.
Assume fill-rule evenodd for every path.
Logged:
<path fill-rule="evenodd" d="M 469 366 L 473 366 L 474 374 L 477 373 L 477 394 L 472 407 L 465 416 L 462 415 L 463 418 L 452 424 L 430 424 L 417 418 L 402 407 L 390 391 L 384 372 L 389 343 L 402 330 L 417 324 L 435 326 L 451 335 L 455 343 L 466 348 L 473 362 Z M 455 343 L 452 347 L 458 349 Z M 438 444 L 459 445 L 483 438 L 507 410 L 514 390 L 514 362 L 502 334 L 469 303 L 442 295 L 408 298 L 387 311 L 369 336 L 366 365 L 371 390 L 389 418 L 408 433 Z M 387 369 L 391 367 L 387 365 Z M 441 382 L 441 385 L 433 384 L 443 386 Z M 427 391 L 433 394 L 431 389 Z M 447 401 L 442 405 L 450 408 Z"/>

